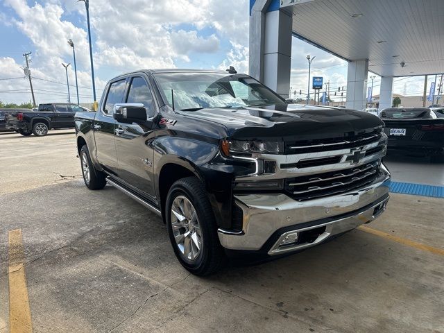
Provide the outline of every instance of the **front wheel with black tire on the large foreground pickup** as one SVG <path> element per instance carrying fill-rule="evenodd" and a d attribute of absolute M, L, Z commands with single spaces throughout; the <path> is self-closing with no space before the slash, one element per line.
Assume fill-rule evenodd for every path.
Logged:
<path fill-rule="evenodd" d="M 210 201 L 196 177 L 182 178 L 171 186 L 164 214 L 180 264 L 195 275 L 219 271 L 225 262 L 225 253 Z"/>

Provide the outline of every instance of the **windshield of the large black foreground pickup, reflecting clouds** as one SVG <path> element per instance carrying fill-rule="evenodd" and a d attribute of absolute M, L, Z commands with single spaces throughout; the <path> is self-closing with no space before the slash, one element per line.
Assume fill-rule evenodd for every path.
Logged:
<path fill-rule="evenodd" d="M 162 73 L 155 74 L 165 103 L 176 110 L 241 108 L 284 104 L 270 89 L 244 74 Z"/>

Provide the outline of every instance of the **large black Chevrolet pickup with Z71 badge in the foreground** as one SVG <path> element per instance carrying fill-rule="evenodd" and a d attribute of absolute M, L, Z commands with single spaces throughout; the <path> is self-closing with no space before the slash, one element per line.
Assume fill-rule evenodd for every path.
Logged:
<path fill-rule="evenodd" d="M 320 244 L 372 221 L 388 201 L 378 117 L 289 105 L 232 70 L 125 74 L 75 122 L 85 185 L 108 182 L 162 216 L 196 275 L 232 255 Z"/>

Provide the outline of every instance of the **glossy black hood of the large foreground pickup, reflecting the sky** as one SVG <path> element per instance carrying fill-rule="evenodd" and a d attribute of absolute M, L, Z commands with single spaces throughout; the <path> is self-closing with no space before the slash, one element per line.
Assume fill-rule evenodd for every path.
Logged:
<path fill-rule="evenodd" d="M 377 116 L 357 110 L 313 105 L 278 104 L 262 108 L 203 108 L 179 111 L 197 119 L 220 123 L 233 139 L 268 141 L 323 139 L 357 135 L 384 126 Z"/>

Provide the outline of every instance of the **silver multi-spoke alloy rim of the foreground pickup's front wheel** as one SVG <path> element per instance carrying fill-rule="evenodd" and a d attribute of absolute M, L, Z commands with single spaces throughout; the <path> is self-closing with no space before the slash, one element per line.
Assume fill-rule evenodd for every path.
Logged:
<path fill-rule="evenodd" d="M 187 260 L 196 260 L 203 247 L 196 209 L 185 196 L 177 196 L 171 205 L 171 228 L 180 253 Z"/>

